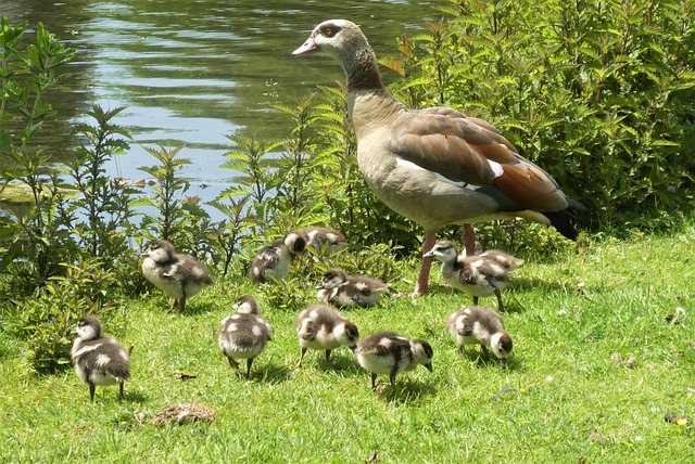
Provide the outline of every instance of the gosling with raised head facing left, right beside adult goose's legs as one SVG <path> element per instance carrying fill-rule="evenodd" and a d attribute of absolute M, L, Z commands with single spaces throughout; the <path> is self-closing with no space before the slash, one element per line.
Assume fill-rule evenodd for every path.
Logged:
<path fill-rule="evenodd" d="M 450 241 L 437 242 L 425 257 L 441 261 L 444 282 L 472 296 L 473 305 L 478 305 L 481 296 L 495 295 L 500 312 L 504 312 L 502 291 L 509 284 L 509 272 L 523 263 L 522 259 L 498 250 L 459 256 Z"/>

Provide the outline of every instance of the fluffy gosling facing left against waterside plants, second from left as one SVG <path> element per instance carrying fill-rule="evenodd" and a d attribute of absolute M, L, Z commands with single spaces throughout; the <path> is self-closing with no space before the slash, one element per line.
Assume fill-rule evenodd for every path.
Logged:
<path fill-rule="evenodd" d="M 172 298 L 169 311 L 186 309 L 186 299 L 213 284 L 205 265 L 190 256 L 178 255 L 166 240 L 150 243 L 142 261 L 142 273 L 154 286 Z"/>

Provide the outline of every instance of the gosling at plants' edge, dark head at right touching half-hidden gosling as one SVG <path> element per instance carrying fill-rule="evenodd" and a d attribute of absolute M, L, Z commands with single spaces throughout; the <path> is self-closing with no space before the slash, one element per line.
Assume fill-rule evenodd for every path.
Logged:
<path fill-rule="evenodd" d="M 292 257 L 306 246 L 304 237 L 290 232 L 285 237 L 274 240 L 261 248 L 251 263 L 249 275 L 254 284 L 281 281 L 290 273 Z"/>

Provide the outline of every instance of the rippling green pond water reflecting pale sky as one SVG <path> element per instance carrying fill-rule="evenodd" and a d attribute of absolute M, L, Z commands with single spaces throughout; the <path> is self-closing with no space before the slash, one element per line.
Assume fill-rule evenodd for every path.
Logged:
<path fill-rule="evenodd" d="M 290 57 L 316 24 L 351 20 L 378 56 L 396 55 L 396 38 L 439 18 L 441 1 L 2 0 L 0 15 L 31 30 L 40 21 L 78 51 L 66 88 L 48 98 L 59 112 L 43 130 L 51 153 L 70 153 L 71 125 L 92 104 L 125 106 L 115 123 L 134 141 L 110 175 L 143 179 L 138 168 L 156 164 L 143 146 L 185 145 L 189 194 L 210 201 L 233 177 L 219 168 L 231 146 L 225 134 L 283 138 L 288 120 L 271 104 L 343 80 L 330 59 Z"/>

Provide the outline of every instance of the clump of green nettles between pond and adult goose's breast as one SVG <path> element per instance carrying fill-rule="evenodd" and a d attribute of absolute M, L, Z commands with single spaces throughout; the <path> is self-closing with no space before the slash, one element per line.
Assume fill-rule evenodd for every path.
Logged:
<path fill-rule="evenodd" d="M 275 108 L 290 118 L 288 138 L 228 136 L 235 146 L 222 166 L 237 176 L 217 201 L 248 198 L 245 248 L 314 224 L 339 230 L 357 247 L 393 242 L 393 249 L 406 253 L 419 245 L 414 225 L 379 202 L 364 182 L 344 89 L 320 88 Z"/>

